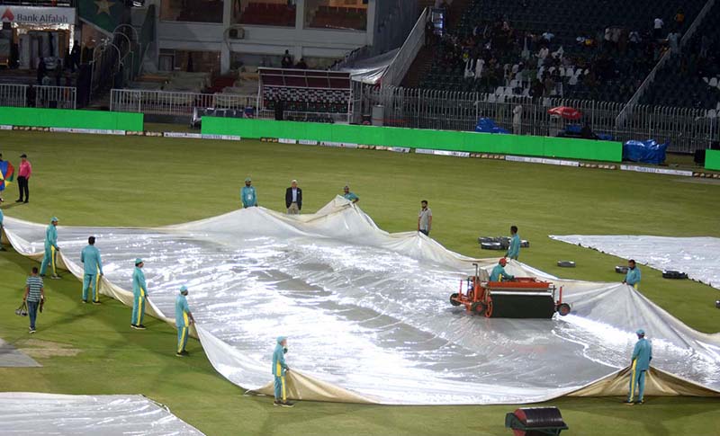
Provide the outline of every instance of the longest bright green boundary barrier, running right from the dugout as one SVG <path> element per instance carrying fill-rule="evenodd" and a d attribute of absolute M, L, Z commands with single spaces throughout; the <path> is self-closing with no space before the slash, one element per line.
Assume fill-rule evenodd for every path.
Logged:
<path fill-rule="evenodd" d="M 606 162 L 620 162 L 623 157 L 622 143 L 614 141 L 315 122 L 202 117 L 202 134 L 236 135 L 242 138 L 306 139 L 368 146 L 430 148 Z"/>

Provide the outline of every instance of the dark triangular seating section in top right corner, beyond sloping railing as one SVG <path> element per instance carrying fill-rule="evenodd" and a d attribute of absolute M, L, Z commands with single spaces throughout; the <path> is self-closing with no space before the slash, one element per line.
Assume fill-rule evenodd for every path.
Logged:
<path fill-rule="evenodd" d="M 707 13 L 692 39 L 658 71 L 640 102 L 720 111 L 720 4 Z"/>

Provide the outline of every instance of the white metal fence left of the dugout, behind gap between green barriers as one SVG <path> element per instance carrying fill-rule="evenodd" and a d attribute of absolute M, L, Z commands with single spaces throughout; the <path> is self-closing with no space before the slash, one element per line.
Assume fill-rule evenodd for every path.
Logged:
<path fill-rule="evenodd" d="M 113 89 L 110 110 L 152 115 L 192 117 L 193 108 L 243 110 L 255 107 L 257 95 L 234 93 L 174 93 L 139 89 Z M 188 119 L 189 120 L 189 119 Z"/>

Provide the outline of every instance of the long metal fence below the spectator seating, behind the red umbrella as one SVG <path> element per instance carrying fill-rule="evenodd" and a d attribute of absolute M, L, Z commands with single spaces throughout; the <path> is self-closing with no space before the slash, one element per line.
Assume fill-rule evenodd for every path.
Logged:
<path fill-rule="evenodd" d="M 365 95 L 370 100 L 365 107 L 383 105 L 386 126 L 473 130 L 480 118 L 490 118 L 499 127 L 518 134 L 557 136 L 568 124 L 587 123 L 596 134 L 608 135 L 619 141 L 648 138 L 667 141 L 670 151 L 684 153 L 720 140 L 720 119 L 715 111 L 635 105 L 627 119 L 618 124 L 617 115 L 626 106 L 620 102 L 562 98 L 533 101 L 529 97 L 392 86 L 374 88 Z M 518 106 L 520 114 L 514 120 Z M 581 120 L 566 121 L 547 113 L 557 106 L 570 106 L 581 111 Z"/>

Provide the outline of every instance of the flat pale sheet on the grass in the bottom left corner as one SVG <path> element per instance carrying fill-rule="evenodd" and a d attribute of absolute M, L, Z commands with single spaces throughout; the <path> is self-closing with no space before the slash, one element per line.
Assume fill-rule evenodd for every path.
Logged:
<path fill-rule="evenodd" d="M 202 436 L 145 396 L 0 393 L 0 434 Z"/>

